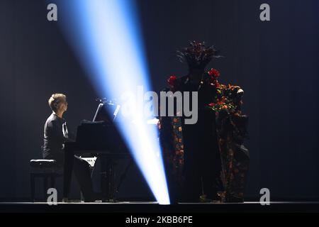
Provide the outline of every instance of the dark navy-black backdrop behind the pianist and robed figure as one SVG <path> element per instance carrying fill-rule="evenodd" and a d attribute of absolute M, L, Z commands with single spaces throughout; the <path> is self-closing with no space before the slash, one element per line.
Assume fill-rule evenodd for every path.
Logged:
<path fill-rule="evenodd" d="M 262 3 L 271 21 L 259 20 Z M 186 73 L 174 50 L 189 40 L 216 45 L 225 57 L 210 67 L 245 90 L 247 198 L 262 187 L 272 199 L 319 198 L 319 2 L 139 0 L 138 9 L 155 91 Z M 28 160 L 39 156 L 52 93 L 67 94 L 71 128 L 96 108 L 88 75 L 46 14 L 44 1 L 0 1 L 1 201 L 30 193 Z"/>

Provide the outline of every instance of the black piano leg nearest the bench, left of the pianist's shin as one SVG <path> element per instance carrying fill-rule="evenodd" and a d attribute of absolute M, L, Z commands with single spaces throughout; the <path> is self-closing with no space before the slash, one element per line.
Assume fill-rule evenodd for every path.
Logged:
<path fill-rule="evenodd" d="M 69 199 L 69 188 L 72 179 L 72 170 L 74 162 L 74 153 L 72 150 L 65 148 L 65 166 L 63 175 L 63 201 Z"/>

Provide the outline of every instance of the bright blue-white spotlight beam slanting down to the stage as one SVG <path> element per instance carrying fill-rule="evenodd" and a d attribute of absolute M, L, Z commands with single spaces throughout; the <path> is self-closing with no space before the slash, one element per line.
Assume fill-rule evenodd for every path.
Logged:
<path fill-rule="evenodd" d="M 67 0 L 62 26 L 91 82 L 101 96 L 136 94 L 138 86 L 150 90 L 138 19 L 130 0 Z M 135 124 L 123 118 L 119 130 L 159 204 L 169 204 L 162 154 L 155 128 L 132 106 Z"/>

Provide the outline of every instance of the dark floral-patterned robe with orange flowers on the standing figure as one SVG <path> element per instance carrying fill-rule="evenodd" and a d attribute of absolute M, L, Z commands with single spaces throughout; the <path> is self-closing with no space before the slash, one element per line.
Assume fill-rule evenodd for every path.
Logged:
<path fill-rule="evenodd" d="M 203 132 L 202 128 L 199 130 L 195 128 L 192 131 L 193 128 L 188 129 L 190 127 L 183 124 L 183 117 L 159 118 L 159 139 L 163 150 L 169 192 L 173 201 L 181 201 L 185 200 L 185 196 L 198 194 L 198 187 L 190 190 L 190 192 L 196 191 L 197 194 L 185 194 L 189 191 L 189 187 L 192 187 L 191 184 L 201 184 L 201 196 L 198 195 L 197 201 L 209 201 L 206 197 L 222 202 L 242 201 L 249 166 L 249 153 L 243 145 L 247 138 L 248 118 L 240 111 L 243 91 L 238 86 L 218 84 L 216 80 L 211 83 L 209 74 L 204 79 L 201 86 L 205 92 L 198 90 L 201 92 L 201 95 L 198 95 L 198 111 L 201 113 L 201 110 L 205 109 L 202 113 L 208 114 L 203 115 L 199 124 L 209 125 L 208 129 L 204 126 Z M 170 86 L 165 91 L 185 91 L 188 83 L 189 77 L 175 79 L 174 86 Z M 189 143 L 193 136 L 199 141 L 198 143 Z M 207 136 L 208 139 L 201 140 Z M 211 137 L 211 143 L 208 143 L 209 137 Z M 191 159 L 196 159 L 196 162 L 192 162 Z M 202 171 L 203 168 L 207 169 L 208 174 L 207 171 Z M 203 182 L 203 177 L 201 182 L 189 181 L 191 178 L 189 172 L 193 170 L 195 170 L 194 175 L 206 175 L 206 182 Z M 210 175 L 209 172 L 212 174 Z M 211 179 L 207 180 L 207 177 Z"/>

